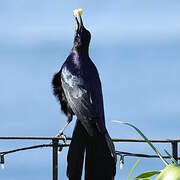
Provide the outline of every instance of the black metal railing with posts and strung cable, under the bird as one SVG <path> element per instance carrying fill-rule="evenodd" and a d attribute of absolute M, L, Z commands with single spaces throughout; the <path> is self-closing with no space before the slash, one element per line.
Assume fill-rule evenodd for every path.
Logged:
<path fill-rule="evenodd" d="M 67 140 L 71 140 L 70 137 L 66 138 Z M 13 149 L 13 150 L 8 150 L 8 151 L 2 151 L 0 152 L 1 156 L 1 163 L 4 163 L 4 156 L 10 153 L 15 153 L 18 151 L 25 151 L 25 150 L 30 150 L 30 149 L 37 149 L 37 148 L 42 148 L 42 147 L 51 147 L 52 148 L 52 164 L 53 164 L 53 180 L 58 180 L 58 149 L 62 150 L 63 147 L 68 147 L 69 144 L 64 144 L 63 142 L 60 143 L 60 141 L 63 140 L 63 138 L 57 138 L 57 137 L 42 137 L 42 136 L 3 136 L 0 137 L 0 141 L 5 141 L 5 140 L 42 140 L 42 141 L 51 141 L 48 144 L 40 144 L 40 145 L 34 145 L 34 146 L 28 146 L 28 147 L 23 147 L 23 148 L 18 148 L 18 149 Z M 172 156 L 174 157 L 175 160 L 179 160 L 180 158 L 178 157 L 178 143 L 180 142 L 180 139 L 151 139 L 150 140 L 153 143 L 168 143 L 171 144 L 171 149 L 172 149 Z M 113 138 L 113 142 L 127 142 L 127 143 L 144 143 L 146 142 L 143 139 L 127 139 L 127 138 Z M 148 155 L 148 154 L 138 154 L 138 153 L 131 153 L 131 152 L 122 152 L 122 151 L 116 151 L 117 155 L 120 156 L 134 156 L 134 157 L 144 157 L 144 158 L 158 158 L 156 155 Z M 168 156 L 164 156 L 164 158 L 169 158 Z"/>

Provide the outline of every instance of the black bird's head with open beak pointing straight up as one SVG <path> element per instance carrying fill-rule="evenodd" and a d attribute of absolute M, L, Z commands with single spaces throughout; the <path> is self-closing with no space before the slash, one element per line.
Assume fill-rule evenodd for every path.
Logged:
<path fill-rule="evenodd" d="M 76 32 L 74 37 L 74 48 L 80 51 L 86 51 L 89 47 L 91 33 L 84 27 L 81 15 L 79 15 L 79 20 L 78 17 L 75 17 L 75 21 Z"/>

